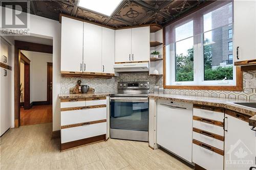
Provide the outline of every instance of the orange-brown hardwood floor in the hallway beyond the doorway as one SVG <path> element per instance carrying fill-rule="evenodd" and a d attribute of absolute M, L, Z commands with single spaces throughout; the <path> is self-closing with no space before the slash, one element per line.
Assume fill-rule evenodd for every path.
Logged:
<path fill-rule="evenodd" d="M 52 123 L 52 105 L 33 106 L 29 110 L 20 108 L 20 126 Z"/>

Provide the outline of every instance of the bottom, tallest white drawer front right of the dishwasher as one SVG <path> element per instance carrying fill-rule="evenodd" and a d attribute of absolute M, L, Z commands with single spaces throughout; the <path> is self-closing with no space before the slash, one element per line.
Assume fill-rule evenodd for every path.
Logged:
<path fill-rule="evenodd" d="M 223 169 L 224 156 L 193 143 L 193 162 L 205 169 Z"/>

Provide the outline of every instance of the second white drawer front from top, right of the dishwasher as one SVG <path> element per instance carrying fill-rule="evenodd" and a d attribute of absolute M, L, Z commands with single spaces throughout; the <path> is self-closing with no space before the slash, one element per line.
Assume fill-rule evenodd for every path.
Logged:
<path fill-rule="evenodd" d="M 215 133 L 217 135 L 224 136 L 224 130 L 221 126 L 207 124 L 198 120 L 193 120 L 193 128 L 202 129 L 207 132 Z"/>

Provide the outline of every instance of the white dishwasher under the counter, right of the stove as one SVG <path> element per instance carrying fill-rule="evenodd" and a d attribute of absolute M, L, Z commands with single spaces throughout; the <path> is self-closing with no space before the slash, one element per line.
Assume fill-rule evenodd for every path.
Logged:
<path fill-rule="evenodd" d="M 157 101 L 157 144 L 192 162 L 193 104 Z"/>

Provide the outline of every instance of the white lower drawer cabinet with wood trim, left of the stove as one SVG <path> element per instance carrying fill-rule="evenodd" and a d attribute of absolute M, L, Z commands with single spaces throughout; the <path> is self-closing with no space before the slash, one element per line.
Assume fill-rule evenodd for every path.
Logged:
<path fill-rule="evenodd" d="M 60 102 L 61 151 L 106 139 L 106 97 Z"/>

